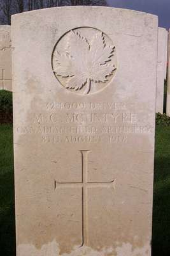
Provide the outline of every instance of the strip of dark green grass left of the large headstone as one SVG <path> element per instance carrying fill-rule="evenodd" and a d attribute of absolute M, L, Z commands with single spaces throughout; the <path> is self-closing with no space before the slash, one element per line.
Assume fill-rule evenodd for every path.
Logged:
<path fill-rule="evenodd" d="M 0 252 L 3 256 L 15 256 L 13 181 L 12 126 L 0 125 Z"/>

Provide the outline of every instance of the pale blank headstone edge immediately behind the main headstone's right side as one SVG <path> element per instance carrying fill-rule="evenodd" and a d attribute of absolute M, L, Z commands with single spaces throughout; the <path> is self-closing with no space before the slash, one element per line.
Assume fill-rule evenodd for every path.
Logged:
<path fill-rule="evenodd" d="M 164 108 L 164 79 L 167 70 L 167 30 L 158 29 L 158 56 L 157 56 L 157 104 L 156 112 L 163 113 Z"/>

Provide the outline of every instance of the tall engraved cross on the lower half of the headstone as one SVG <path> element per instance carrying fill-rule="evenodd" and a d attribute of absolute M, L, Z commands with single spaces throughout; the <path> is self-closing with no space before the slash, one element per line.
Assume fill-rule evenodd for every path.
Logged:
<path fill-rule="evenodd" d="M 81 182 L 58 182 L 54 181 L 55 189 L 60 188 L 60 186 L 65 186 L 66 188 L 81 188 L 82 189 L 82 243 L 81 246 L 88 246 L 88 202 L 87 202 L 87 189 L 96 188 L 101 186 L 113 186 L 115 180 L 111 181 L 88 181 L 88 154 L 90 150 L 80 150 L 81 152 Z M 114 186 L 113 186 L 114 188 Z"/>

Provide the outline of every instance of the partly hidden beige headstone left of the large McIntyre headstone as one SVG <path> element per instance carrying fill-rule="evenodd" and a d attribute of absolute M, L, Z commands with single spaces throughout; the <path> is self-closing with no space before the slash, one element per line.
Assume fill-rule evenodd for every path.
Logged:
<path fill-rule="evenodd" d="M 0 26 L 0 90 L 12 91 L 11 26 Z"/>

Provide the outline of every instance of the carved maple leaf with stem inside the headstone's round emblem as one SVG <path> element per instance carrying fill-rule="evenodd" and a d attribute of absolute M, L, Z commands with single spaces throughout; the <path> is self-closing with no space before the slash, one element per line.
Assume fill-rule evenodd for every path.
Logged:
<path fill-rule="evenodd" d="M 65 52 L 55 52 L 53 72 L 61 77 L 70 77 L 66 88 L 81 90 L 87 86 L 90 92 L 91 81 L 106 82 L 115 71 L 115 65 L 109 63 L 115 47 L 106 45 L 102 32 L 96 33 L 89 42 L 78 32 L 70 31 Z"/>

